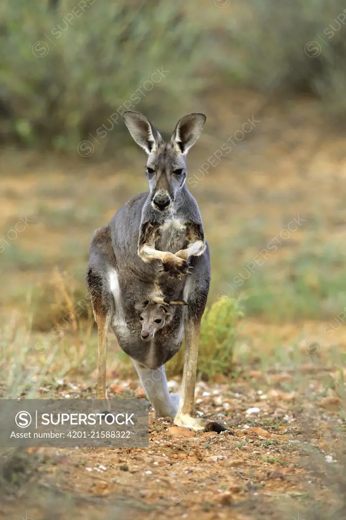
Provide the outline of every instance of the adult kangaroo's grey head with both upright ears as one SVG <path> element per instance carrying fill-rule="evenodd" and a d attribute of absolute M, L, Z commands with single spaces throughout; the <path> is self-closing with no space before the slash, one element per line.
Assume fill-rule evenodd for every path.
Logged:
<path fill-rule="evenodd" d="M 123 119 L 131 136 L 148 154 L 146 171 L 152 207 L 161 213 L 169 211 L 185 184 L 186 155 L 201 135 L 206 116 L 185 115 L 168 143 L 140 112 L 124 112 Z"/>

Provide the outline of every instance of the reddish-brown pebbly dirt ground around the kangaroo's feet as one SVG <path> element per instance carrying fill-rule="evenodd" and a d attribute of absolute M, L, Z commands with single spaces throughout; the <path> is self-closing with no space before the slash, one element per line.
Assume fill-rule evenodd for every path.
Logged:
<path fill-rule="evenodd" d="M 328 373 L 323 367 L 311 363 L 300 371 L 308 388 L 295 373 L 260 370 L 232 382 L 199 382 L 197 414 L 217 418 L 233 436 L 192 432 L 151 413 L 149 449 L 28 448 L 29 456 L 41 456 L 36 485 L 38 480 L 40 492 L 77 498 L 77 518 L 305 518 L 307 504 L 315 501 L 332 508 L 328 477 L 314 471 L 313 464 L 325 466 L 326 473 L 336 464 L 344 442 L 341 430 L 334 430 L 342 400 L 331 389 L 323 397 Z M 174 380 L 169 384 L 178 386 Z M 141 398 L 137 385 L 116 380 L 110 397 Z M 74 398 L 86 391 L 85 383 L 65 382 L 56 397 Z M 32 503 L 27 486 L 17 491 L 20 504 L 14 505 L 14 497 L 3 502 L 3 517 L 25 518 L 25 510 L 35 520 L 52 518 Z M 57 503 L 54 518 L 64 514 L 66 503 Z"/>

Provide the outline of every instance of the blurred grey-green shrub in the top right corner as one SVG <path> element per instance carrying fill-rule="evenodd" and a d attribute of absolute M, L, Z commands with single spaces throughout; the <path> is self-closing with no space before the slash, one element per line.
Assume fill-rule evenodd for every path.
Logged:
<path fill-rule="evenodd" d="M 232 81 L 263 92 L 303 92 L 323 101 L 331 116 L 346 114 L 346 6 L 342 0 L 249 0 L 224 17 L 228 37 L 218 53 Z"/>

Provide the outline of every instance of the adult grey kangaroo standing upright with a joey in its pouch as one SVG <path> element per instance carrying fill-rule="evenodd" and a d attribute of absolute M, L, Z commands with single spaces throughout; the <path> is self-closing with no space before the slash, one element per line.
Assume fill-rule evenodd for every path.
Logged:
<path fill-rule="evenodd" d="M 181 118 L 169 142 L 139 112 L 123 113 L 132 138 L 148 154 L 149 191 L 128 201 L 108 226 L 97 230 L 90 245 L 86 282 L 98 327 L 96 397 L 106 397 L 108 331 L 134 362 L 141 383 L 158 417 L 174 418 L 193 430 L 225 430 L 218 423 L 193 417 L 201 318 L 210 284 L 208 243 L 198 205 L 185 186 L 185 159 L 201 135 L 206 116 Z M 135 306 L 148 294 L 162 298 L 165 283 L 181 284 L 182 300 L 165 327 L 148 342 L 141 337 Z M 169 280 L 169 281 L 168 281 Z M 169 291 L 168 291 L 169 292 Z M 165 363 L 182 344 L 186 353 L 180 398 L 170 395 Z"/>

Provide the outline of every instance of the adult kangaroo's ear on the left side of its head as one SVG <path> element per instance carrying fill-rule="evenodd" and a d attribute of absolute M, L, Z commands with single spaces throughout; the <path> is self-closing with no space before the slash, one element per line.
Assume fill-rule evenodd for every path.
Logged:
<path fill-rule="evenodd" d="M 128 110 L 123 113 L 123 120 L 131 136 L 148 155 L 163 142 L 161 135 L 140 112 Z"/>

